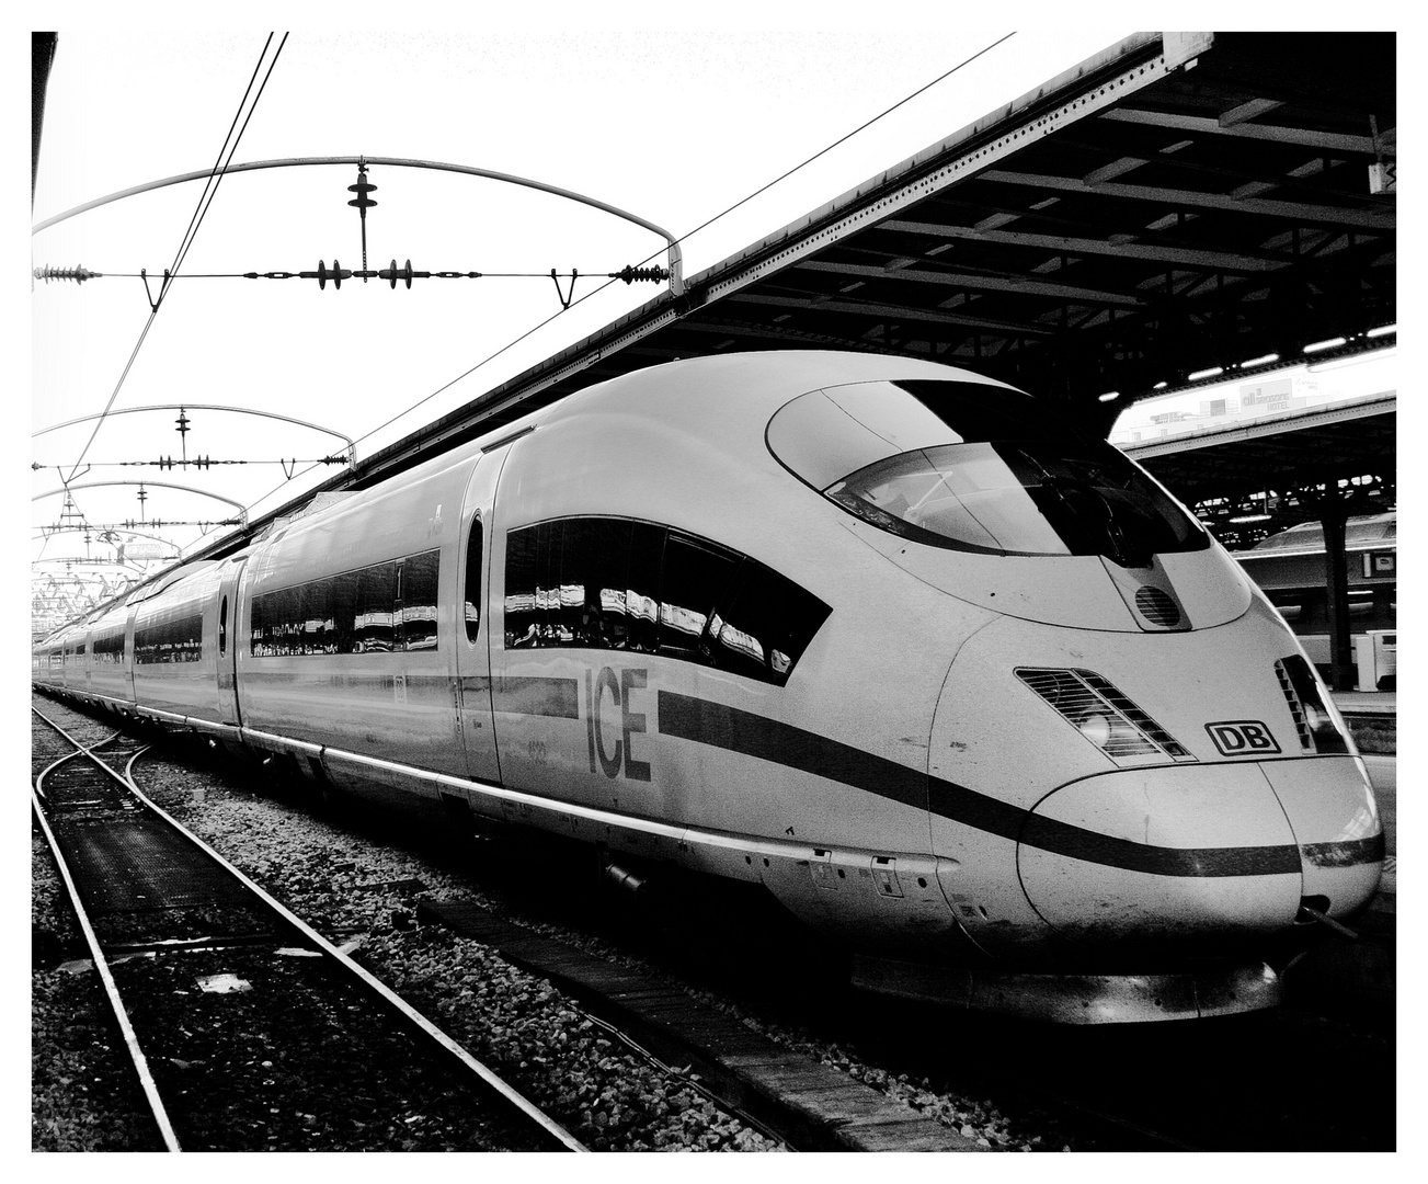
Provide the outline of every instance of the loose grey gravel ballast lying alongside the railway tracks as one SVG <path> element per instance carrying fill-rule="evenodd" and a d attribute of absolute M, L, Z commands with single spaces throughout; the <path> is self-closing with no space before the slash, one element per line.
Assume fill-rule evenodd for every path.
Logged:
<path fill-rule="evenodd" d="M 96 733 L 104 728 L 99 723 L 87 727 Z M 591 1150 L 781 1150 L 778 1143 L 721 1111 L 698 1091 L 697 1083 L 625 1048 L 545 980 L 511 965 L 478 941 L 416 921 L 418 898 L 464 898 L 507 911 L 503 901 L 486 898 L 471 880 L 423 856 L 377 843 L 343 824 L 340 816 L 328 821 L 280 797 L 258 796 L 217 761 L 198 767 L 160 751 L 140 763 L 137 777 L 163 808 L 347 948 Z M 47 853 L 41 857 L 37 851 L 33 924 L 37 933 L 54 933 L 73 948 L 63 908 L 54 903 L 54 877 L 40 870 L 47 858 Z M 507 918 L 521 920 L 508 913 Z M 605 953 L 598 940 L 547 924 L 533 928 Z M 93 970 L 87 977 L 97 981 Z M 126 1074 L 121 1064 L 100 1058 L 104 1041 L 113 1043 L 103 1015 L 96 1011 L 93 1021 L 93 1031 L 103 1031 L 103 1040 L 94 1035 L 79 1053 L 66 1047 L 63 1033 L 73 1028 L 66 1013 L 76 1007 L 71 991 L 84 978 L 84 973 L 40 968 L 37 961 L 33 1145 L 36 1150 L 153 1147 L 153 1137 L 143 1123 L 136 1123 L 131 1104 L 123 1100 L 121 1084 L 131 1071 Z M 734 1008 L 698 987 L 690 991 L 704 1003 Z M 1061 1138 L 1048 1145 L 1037 1134 L 1012 1131 L 1012 1124 L 988 1104 L 863 1064 L 848 1050 L 807 1033 L 757 1015 L 740 1018 L 982 1145 L 1064 1147 Z M 76 1064 L 76 1055 L 83 1064 Z M 106 1097 L 96 1101 L 96 1093 Z M 137 1087 L 133 1093 L 137 1095 Z M 461 1143 L 437 1137 L 434 1145 L 457 1150 Z"/>

